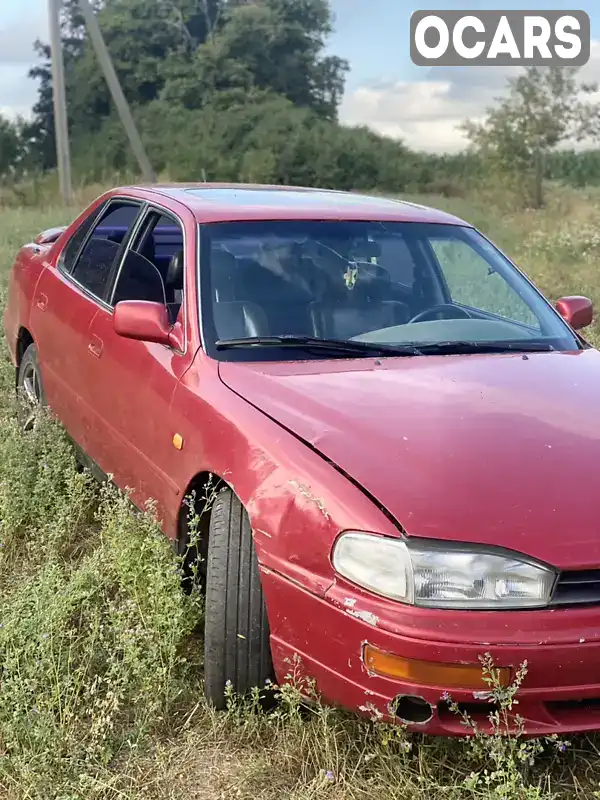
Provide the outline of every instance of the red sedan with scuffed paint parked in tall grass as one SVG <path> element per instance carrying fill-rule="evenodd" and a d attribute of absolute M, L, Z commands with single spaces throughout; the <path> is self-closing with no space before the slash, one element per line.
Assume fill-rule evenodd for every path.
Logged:
<path fill-rule="evenodd" d="M 600 354 L 469 224 L 411 203 L 128 187 L 17 256 L 17 386 L 186 547 L 205 511 L 205 691 L 299 665 L 434 734 L 490 705 L 600 728 Z M 206 501 L 213 476 L 219 491 Z M 215 483 L 216 482 L 216 483 Z"/>

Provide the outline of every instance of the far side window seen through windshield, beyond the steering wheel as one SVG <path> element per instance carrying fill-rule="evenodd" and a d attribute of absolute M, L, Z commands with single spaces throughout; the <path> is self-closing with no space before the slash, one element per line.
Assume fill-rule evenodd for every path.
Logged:
<path fill-rule="evenodd" d="M 452 300 L 537 329 L 539 320 L 509 283 L 473 247 L 452 237 L 430 239 Z"/>

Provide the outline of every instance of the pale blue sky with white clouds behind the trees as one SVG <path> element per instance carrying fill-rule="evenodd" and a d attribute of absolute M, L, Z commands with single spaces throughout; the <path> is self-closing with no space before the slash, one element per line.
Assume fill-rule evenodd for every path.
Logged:
<path fill-rule="evenodd" d="M 481 118 L 506 85 L 511 68 L 416 67 L 409 55 L 410 16 L 420 9 L 584 10 L 592 25 L 592 55 L 581 78 L 600 82 L 598 0 L 330 0 L 335 32 L 328 51 L 347 59 L 350 74 L 342 122 L 368 125 L 431 152 L 456 152 L 465 141 L 457 126 Z M 0 113 L 28 115 L 36 83 L 33 42 L 48 39 L 48 0 L 0 0 Z M 513 68 L 514 71 L 514 68 Z M 599 95 L 600 99 L 600 95 Z"/>

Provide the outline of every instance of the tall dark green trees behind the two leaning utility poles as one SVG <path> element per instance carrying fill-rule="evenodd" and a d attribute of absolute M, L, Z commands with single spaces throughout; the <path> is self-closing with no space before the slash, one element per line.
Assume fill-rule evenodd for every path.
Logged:
<path fill-rule="evenodd" d="M 331 30 L 328 0 L 95 0 L 98 21 L 134 113 L 163 99 L 199 109 L 220 93 L 275 93 L 335 119 L 347 64 L 324 56 Z M 77 140 L 114 116 L 113 103 L 77 0 L 65 0 L 62 40 L 69 126 Z M 41 63 L 30 127 L 39 165 L 54 165 L 50 52 Z M 146 136 L 147 132 L 142 131 Z"/>

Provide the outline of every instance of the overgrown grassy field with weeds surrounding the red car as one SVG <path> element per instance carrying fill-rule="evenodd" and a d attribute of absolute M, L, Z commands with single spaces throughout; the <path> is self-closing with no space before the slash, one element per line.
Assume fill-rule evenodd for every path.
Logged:
<path fill-rule="evenodd" d="M 93 196 L 93 193 L 92 193 Z M 86 199 L 91 199 L 89 196 Z M 600 193 L 541 212 L 411 198 L 474 222 L 552 299 L 599 299 Z M 0 208 L 0 268 L 74 210 Z M 587 332 L 600 344 L 596 323 Z M 600 797 L 600 738 L 411 737 L 283 693 L 265 715 L 201 699 L 201 599 L 152 522 L 75 469 L 50 422 L 24 437 L 0 368 L 0 797 L 9 800 Z"/>

